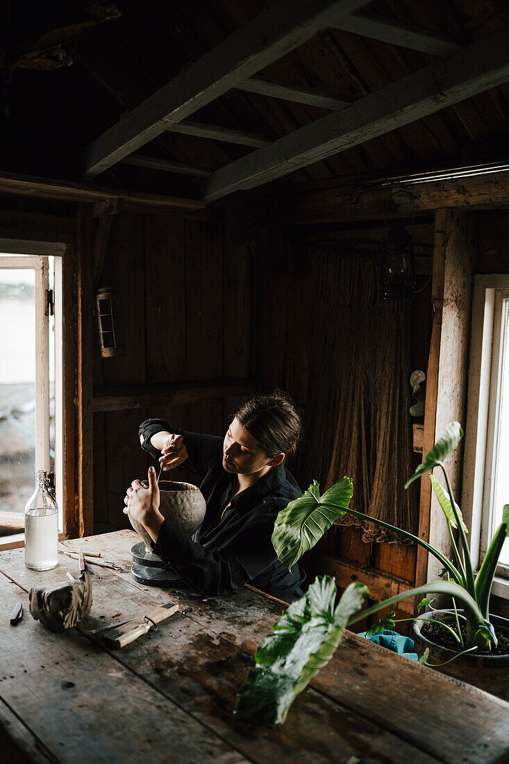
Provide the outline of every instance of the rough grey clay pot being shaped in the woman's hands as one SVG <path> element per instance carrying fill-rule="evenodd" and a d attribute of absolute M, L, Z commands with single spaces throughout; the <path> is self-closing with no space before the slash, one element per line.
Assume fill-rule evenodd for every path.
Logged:
<path fill-rule="evenodd" d="M 141 481 L 147 486 L 147 481 Z M 180 533 L 190 538 L 203 522 L 205 517 L 206 503 L 201 490 L 191 483 L 176 483 L 173 481 L 159 481 L 160 504 L 159 511 L 174 525 Z M 151 554 L 151 536 L 141 523 L 129 517 L 131 526 L 145 544 L 148 554 Z"/>

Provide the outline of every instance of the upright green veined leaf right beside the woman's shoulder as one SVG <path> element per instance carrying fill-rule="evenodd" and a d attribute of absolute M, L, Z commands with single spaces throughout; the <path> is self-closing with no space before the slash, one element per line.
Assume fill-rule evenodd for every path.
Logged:
<path fill-rule="evenodd" d="M 316 480 L 298 499 L 277 515 L 272 544 L 277 557 L 290 570 L 304 552 L 308 552 L 332 523 L 345 513 L 352 498 L 350 478 L 342 478 L 320 497 Z"/>

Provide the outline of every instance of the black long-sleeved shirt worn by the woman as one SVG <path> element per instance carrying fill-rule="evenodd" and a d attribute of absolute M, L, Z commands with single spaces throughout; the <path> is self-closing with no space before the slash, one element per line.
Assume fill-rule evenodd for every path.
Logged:
<path fill-rule="evenodd" d="M 300 584 L 306 576 L 298 565 L 288 571 L 277 559 L 271 541 L 277 513 L 302 494 L 284 462 L 233 497 L 222 514 L 233 481 L 233 475 L 222 466 L 222 438 L 187 432 L 164 419 L 147 419 L 139 434 L 145 451 L 156 459 L 160 452 L 150 439 L 161 431 L 183 436 L 189 458 L 180 466 L 202 478 L 206 513 L 193 539 L 164 520 L 154 552 L 183 581 L 206 594 L 222 594 L 249 581 L 285 602 L 301 597 Z"/>

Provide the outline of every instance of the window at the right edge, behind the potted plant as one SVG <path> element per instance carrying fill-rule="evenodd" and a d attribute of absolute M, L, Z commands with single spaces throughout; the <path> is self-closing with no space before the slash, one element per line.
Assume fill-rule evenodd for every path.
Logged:
<path fill-rule="evenodd" d="M 479 563 L 509 503 L 507 274 L 479 275 L 474 282 L 462 500 L 465 514 L 471 515 L 472 556 Z M 494 594 L 509 597 L 507 542 L 497 575 Z"/>

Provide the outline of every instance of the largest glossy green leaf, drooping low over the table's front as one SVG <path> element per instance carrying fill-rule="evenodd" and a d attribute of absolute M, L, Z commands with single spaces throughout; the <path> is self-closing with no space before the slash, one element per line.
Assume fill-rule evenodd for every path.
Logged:
<path fill-rule="evenodd" d="M 235 714 L 258 724 L 283 724 L 297 695 L 332 658 L 346 623 L 368 594 L 356 582 L 336 602 L 336 584 L 316 578 L 293 602 L 256 652 L 256 666 L 238 691 Z"/>

